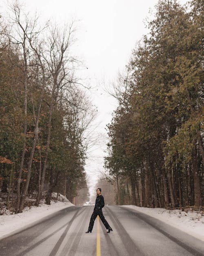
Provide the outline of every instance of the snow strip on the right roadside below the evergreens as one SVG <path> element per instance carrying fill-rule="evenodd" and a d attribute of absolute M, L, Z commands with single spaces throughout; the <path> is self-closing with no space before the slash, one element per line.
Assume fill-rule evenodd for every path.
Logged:
<path fill-rule="evenodd" d="M 191 236 L 204 241 L 204 215 L 198 212 L 167 210 L 164 208 L 145 208 L 135 205 L 122 205 L 159 219 Z"/>

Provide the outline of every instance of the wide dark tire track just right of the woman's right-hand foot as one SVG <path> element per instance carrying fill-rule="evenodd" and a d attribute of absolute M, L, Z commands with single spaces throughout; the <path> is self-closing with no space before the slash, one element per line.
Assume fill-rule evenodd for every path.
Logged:
<path fill-rule="evenodd" d="M 144 253 L 139 249 L 139 247 L 137 247 L 137 245 L 135 245 L 135 242 L 132 240 L 127 231 L 122 226 L 121 222 L 118 220 L 117 215 L 115 215 L 115 213 L 113 213 L 113 211 L 109 207 L 106 207 L 106 211 L 109 213 L 109 217 L 111 218 L 111 221 L 116 227 L 122 243 L 129 256 L 144 256 Z"/>

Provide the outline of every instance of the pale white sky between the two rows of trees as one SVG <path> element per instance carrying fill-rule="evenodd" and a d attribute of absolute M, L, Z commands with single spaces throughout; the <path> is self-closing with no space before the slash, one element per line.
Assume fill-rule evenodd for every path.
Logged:
<path fill-rule="evenodd" d="M 184 4 L 186 0 L 179 2 Z M 95 123 L 100 125 L 96 129 L 106 134 L 105 125 L 111 121 L 117 104 L 104 92 L 104 86 L 111 86 L 118 71 L 128 63 L 136 41 L 147 33 L 143 21 L 150 17 L 149 9 L 153 9 L 157 0 L 26 0 L 24 3 L 29 11 L 37 10 L 42 20 L 54 18 L 59 23 L 71 18 L 78 20 L 74 51 L 88 67 L 79 74 L 94 88 L 89 94 L 98 106 Z M 4 6 L 5 1 L 0 0 L 0 7 Z M 100 148 L 93 148 L 89 154 L 86 172 L 91 194 L 95 193 L 98 175 L 104 171 L 105 149 L 104 140 Z"/>

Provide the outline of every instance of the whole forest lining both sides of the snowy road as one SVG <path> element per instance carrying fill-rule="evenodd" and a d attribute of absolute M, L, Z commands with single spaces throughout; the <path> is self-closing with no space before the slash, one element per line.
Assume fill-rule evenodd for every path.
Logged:
<path fill-rule="evenodd" d="M 95 184 L 107 204 L 204 206 L 203 17 L 202 0 L 159 0 L 110 84 L 118 105 Z M 18 0 L 0 14 L 0 214 L 51 204 L 53 192 L 89 201 L 97 109 L 77 72 L 76 29 L 74 20 L 42 23 Z"/>

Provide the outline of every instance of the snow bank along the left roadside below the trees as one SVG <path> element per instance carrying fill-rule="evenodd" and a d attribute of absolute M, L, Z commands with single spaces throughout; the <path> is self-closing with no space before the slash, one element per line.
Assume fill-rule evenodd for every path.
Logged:
<path fill-rule="evenodd" d="M 56 197 L 57 193 L 52 193 L 52 197 Z M 9 233 L 16 231 L 28 224 L 31 224 L 41 218 L 60 211 L 69 206 L 73 206 L 69 200 L 63 195 L 58 195 L 58 201 L 51 201 L 51 205 L 40 204 L 38 207 L 31 206 L 31 208 L 24 208 L 22 213 L 11 215 L 0 215 L 0 239 Z"/>

